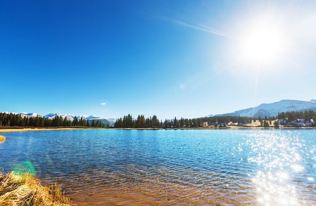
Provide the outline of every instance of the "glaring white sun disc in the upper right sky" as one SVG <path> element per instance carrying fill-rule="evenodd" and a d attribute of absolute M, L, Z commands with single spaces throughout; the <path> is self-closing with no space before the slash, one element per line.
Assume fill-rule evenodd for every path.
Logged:
<path fill-rule="evenodd" d="M 284 49 L 280 32 L 272 27 L 253 28 L 245 38 L 244 55 L 250 60 L 271 61 Z"/>

